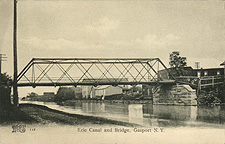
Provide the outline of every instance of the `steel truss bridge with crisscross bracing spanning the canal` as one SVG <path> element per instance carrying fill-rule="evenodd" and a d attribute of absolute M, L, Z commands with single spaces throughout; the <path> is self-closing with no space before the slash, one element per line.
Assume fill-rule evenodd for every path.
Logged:
<path fill-rule="evenodd" d="M 159 58 L 33 58 L 17 77 L 23 86 L 172 84 Z M 170 75 L 172 77 L 172 75 Z"/>

